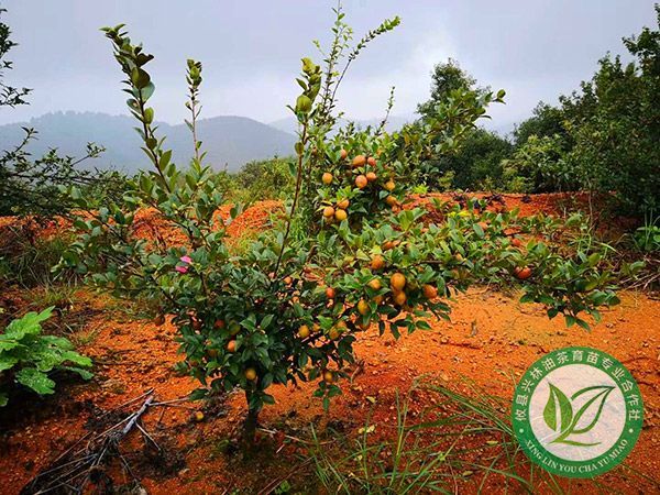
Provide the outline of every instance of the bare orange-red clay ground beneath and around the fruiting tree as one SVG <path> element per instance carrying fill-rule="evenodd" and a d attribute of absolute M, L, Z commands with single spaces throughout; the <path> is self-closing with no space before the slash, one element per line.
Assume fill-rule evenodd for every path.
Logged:
<path fill-rule="evenodd" d="M 505 201 L 506 207 L 518 202 L 528 205 L 521 197 L 509 199 L 509 195 Z M 552 210 L 556 207 L 544 206 L 539 197 L 532 202 L 530 210 L 548 208 L 548 212 L 557 212 Z M 232 235 L 262 227 L 276 208 L 278 204 L 272 202 L 243 213 L 248 217 L 234 222 Z M 396 416 L 396 392 L 405 394 L 420 375 L 430 374 L 449 387 L 455 378 L 469 377 L 487 393 L 508 400 L 514 382 L 543 353 L 569 345 L 594 346 L 628 367 L 639 384 L 646 409 L 639 442 L 627 464 L 648 479 L 630 476 L 618 468 L 598 481 L 623 493 L 658 493 L 660 301 L 635 292 L 624 292 L 620 298 L 619 306 L 603 311 L 603 321 L 585 332 L 566 329 L 560 319 L 548 320 L 542 307 L 520 305 L 515 296 L 487 288 L 471 290 L 458 298 L 451 323 L 431 321 L 431 330 L 403 336 L 398 341 L 389 336 L 378 337 L 374 328 L 360 334 L 355 352 L 364 362 L 363 371 L 355 375 L 352 386 L 344 384 L 344 394 L 333 399 L 329 416 L 323 415 L 319 399 L 311 397 L 315 384 L 298 388 L 274 386 L 276 404 L 263 410 L 261 425 L 267 430 L 301 431 L 297 436 L 302 437 L 309 424 L 319 430 L 331 424 L 351 437 L 358 435 L 371 411 L 376 433 L 388 431 Z M 86 290 L 76 295 L 76 305 L 96 310 L 90 311 L 92 316 L 74 336 L 81 343 L 81 352 L 95 360 L 96 376 L 90 383 L 64 384 L 55 397 L 34 397 L 20 404 L 21 410 L 14 410 L 13 415 L 0 416 L 0 421 L 6 421 L 0 422 L 1 494 L 19 493 L 87 432 L 87 421 L 98 416 L 99 410 L 117 407 L 151 387 L 160 400 L 184 397 L 197 387 L 190 377 L 179 376 L 174 371 L 180 356 L 176 354 L 178 345 L 174 342 L 176 330 L 169 323 L 155 327 L 148 321 L 118 317 L 117 302 Z M 424 406 L 430 404 L 415 403 L 414 414 Z M 295 442 L 282 448 L 283 433 L 266 438 L 254 459 L 242 460 L 223 450 L 227 439 L 240 427 L 244 410 L 244 398 L 233 394 L 224 408 L 207 410 L 201 422 L 193 421 L 191 410 L 184 408 L 147 413 L 146 429 L 180 459 L 166 472 L 139 471 L 146 491 L 153 494 L 232 493 L 234 490 L 257 493 L 289 470 L 295 471 L 304 452 L 296 450 Z M 134 436 L 122 449 L 140 452 L 142 446 L 142 440 Z M 116 482 L 122 482 L 120 475 Z M 297 486 L 295 476 L 292 482 L 294 488 L 302 493 L 312 491 L 305 485 Z M 571 492 L 596 493 L 590 481 L 572 481 L 566 487 Z M 475 485 L 466 481 L 459 490 L 473 493 Z M 547 487 L 540 491 L 548 492 Z M 492 476 L 484 493 L 503 492 L 502 481 Z"/>

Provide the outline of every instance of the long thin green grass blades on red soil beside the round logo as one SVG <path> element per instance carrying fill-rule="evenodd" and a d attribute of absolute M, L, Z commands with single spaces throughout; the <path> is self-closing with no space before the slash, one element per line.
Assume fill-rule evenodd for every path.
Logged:
<path fill-rule="evenodd" d="M 312 429 L 309 454 L 318 482 L 328 493 L 345 494 L 571 492 L 571 480 L 525 455 L 512 430 L 509 400 L 466 378 L 460 386 L 465 392 L 424 378 L 403 399 L 397 395 L 394 435 L 380 435 L 388 426 L 367 418 L 356 439 L 331 432 L 336 440 L 329 448 Z M 417 398 L 432 406 L 417 415 Z M 615 476 L 626 486 L 657 486 L 626 465 Z M 597 480 L 588 483 L 594 492 L 614 490 Z"/>

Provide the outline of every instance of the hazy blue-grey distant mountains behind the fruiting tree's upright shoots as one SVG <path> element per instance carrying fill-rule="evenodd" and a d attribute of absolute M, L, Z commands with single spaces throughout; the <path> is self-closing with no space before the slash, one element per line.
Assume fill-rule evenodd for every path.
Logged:
<path fill-rule="evenodd" d="M 86 144 L 95 142 L 107 148 L 99 158 L 86 163 L 88 167 L 116 168 L 135 173 L 148 167 L 141 141 L 134 131 L 135 121 L 125 116 L 106 113 L 57 112 L 30 122 L 0 125 L 0 150 L 21 142 L 21 127 L 38 131 L 37 140 L 28 150 L 40 156 L 52 147 L 62 155 L 80 156 Z M 287 156 L 294 153 L 296 136 L 245 117 L 222 116 L 198 122 L 198 134 L 207 152 L 207 163 L 216 169 L 227 166 L 238 170 L 252 160 Z M 186 165 L 193 153 L 193 138 L 186 124 L 158 123 L 158 135 L 167 136 L 165 146 L 173 150 L 174 161 Z"/>

